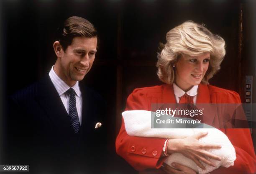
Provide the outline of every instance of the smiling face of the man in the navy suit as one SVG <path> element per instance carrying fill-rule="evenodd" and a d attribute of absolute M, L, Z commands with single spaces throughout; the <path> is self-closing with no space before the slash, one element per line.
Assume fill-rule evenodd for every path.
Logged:
<path fill-rule="evenodd" d="M 97 37 L 75 37 L 66 51 L 61 49 L 54 71 L 72 87 L 90 71 L 96 52 Z"/>

